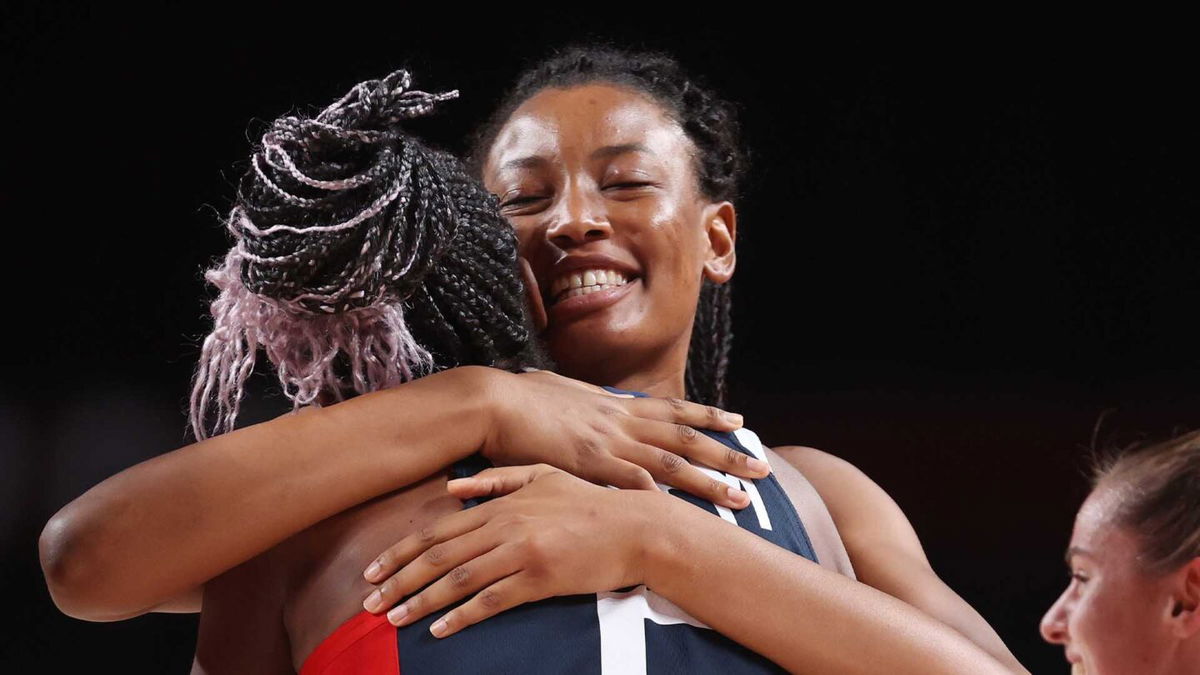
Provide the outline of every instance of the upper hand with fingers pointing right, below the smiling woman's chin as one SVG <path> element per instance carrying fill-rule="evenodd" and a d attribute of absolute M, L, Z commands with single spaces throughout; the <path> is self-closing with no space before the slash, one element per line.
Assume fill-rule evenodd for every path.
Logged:
<path fill-rule="evenodd" d="M 654 489 L 655 482 L 730 508 L 749 497 L 684 458 L 740 478 L 767 462 L 694 428 L 732 431 L 742 416 L 678 399 L 640 399 L 548 371 L 493 371 L 493 423 L 482 454 L 496 465 L 548 464 L 601 485 Z"/>

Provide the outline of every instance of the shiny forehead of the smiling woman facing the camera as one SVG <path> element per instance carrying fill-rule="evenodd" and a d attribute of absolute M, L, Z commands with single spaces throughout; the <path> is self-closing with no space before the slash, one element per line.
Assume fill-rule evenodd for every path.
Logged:
<path fill-rule="evenodd" d="M 686 161 L 688 137 L 666 110 L 628 88 L 587 84 L 544 89 L 522 103 L 500 129 L 488 153 L 494 174 L 533 159 L 587 161 L 614 149 L 640 151 L 664 162 Z"/>

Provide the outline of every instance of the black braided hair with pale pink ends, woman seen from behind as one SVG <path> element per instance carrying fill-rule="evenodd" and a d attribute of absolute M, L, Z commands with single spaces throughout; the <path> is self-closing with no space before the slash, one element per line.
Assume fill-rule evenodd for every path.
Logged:
<path fill-rule="evenodd" d="M 270 126 L 205 277 L 211 304 L 192 388 L 197 438 L 233 429 L 258 347 L 294 406 L 343 400 L 464 364 L 542 365 L 498 199 L 454 156 L 398 126 L 457 91 L 396 71 L 314 118 Z"/>

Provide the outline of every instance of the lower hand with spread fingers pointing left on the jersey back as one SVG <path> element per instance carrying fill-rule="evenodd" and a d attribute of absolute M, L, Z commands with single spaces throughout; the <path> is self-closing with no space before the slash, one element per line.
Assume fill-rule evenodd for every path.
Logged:
<path fill-rule="evenodd" d="M 388 613 L 396 626 L 475 593 L 431 626 L 438 638 L 527 602 L 641 584 L 647 514 L 661 510 L 652 501 L 673 500 L 600 488 L 547 465 L 488 468 L 446 488 L 462 500 L 506 496 L 406 537 L 364 573 L 383 581 L 362 603 L 374 614 L 437 579 Z"/>

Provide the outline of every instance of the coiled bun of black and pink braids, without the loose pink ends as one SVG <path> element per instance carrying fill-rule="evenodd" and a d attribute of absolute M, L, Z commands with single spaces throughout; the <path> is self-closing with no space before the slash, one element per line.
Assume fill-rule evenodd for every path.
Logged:
<path fill-rule="evenodd" d="M 263 135 L 228 222 L 251 292 L 334 313 L 420 282 L 456 217 L 437 154 L 397 123 L 458 91 L 410 84 L 407 71 L 359 83 L 316 118 L 283 117 Z"/>

